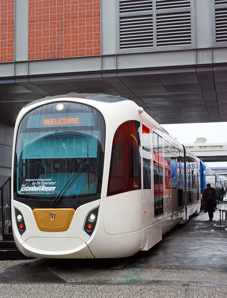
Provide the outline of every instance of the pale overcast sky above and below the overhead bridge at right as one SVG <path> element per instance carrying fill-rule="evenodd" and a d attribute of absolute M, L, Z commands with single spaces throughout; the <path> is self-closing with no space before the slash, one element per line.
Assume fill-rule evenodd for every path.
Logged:
<path fill-rule="evenodd" d="M 163 124 L 163 128 L 182 144 L 206 138 L 206 143 L 227 143 L 227 122 Z M 209 167 L 227 167 L 227 162 L 207 162 Z"/>

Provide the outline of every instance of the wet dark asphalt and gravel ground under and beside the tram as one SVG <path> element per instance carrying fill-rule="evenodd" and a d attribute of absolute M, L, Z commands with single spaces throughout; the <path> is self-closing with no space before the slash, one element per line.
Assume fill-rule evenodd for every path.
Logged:
<path fill-rule="evenodd" d="M 0 261 L 0 297 L 226 298 L 226 233 L 200 212 L 129 258 Z"/>

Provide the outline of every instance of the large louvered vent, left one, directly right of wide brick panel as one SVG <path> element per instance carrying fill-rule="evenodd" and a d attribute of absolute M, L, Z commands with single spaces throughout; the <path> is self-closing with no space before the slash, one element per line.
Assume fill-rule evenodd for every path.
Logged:
<path fill-rule="evenodd" d="M 153 16 L 120 17 L 120 49 L 140 49 L 153 46 Z"/>

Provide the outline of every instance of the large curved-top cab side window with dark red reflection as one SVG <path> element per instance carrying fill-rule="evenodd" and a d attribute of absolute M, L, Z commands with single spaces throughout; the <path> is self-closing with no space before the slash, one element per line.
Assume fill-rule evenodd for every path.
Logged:
<path fill-rule="evenodd" d="M 113 138 L 107 196 L 138 189 L 141 189 L 140 122 L 126 121 Z"/>

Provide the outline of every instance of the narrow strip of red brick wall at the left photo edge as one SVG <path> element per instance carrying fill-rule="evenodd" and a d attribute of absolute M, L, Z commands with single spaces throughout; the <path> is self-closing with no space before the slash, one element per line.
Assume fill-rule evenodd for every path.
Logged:
<path fill-rule="evenodd" d="M 14 0 L 0 0 L 0 62 L 13 61 Z"/>

